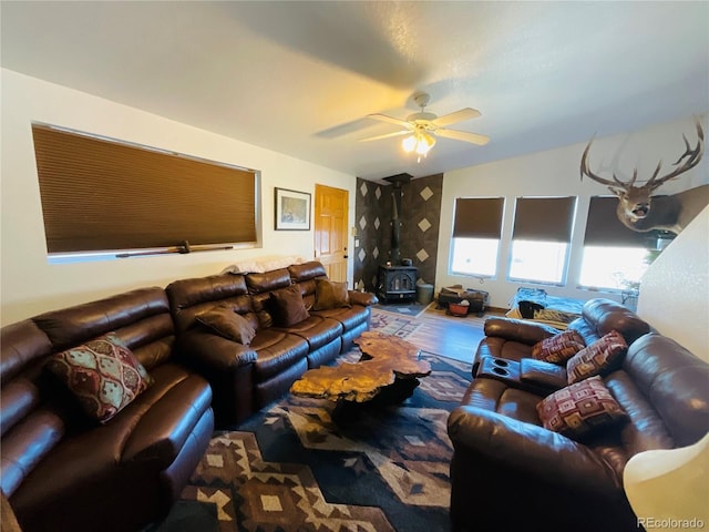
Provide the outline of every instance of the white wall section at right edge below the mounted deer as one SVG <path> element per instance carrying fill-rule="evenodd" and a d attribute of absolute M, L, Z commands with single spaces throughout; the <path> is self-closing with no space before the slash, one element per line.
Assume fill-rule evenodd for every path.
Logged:
<path fill-rule="evenodd" d="M 709 361 L 709 207 L 645 274 L 638 314 Z"/>

